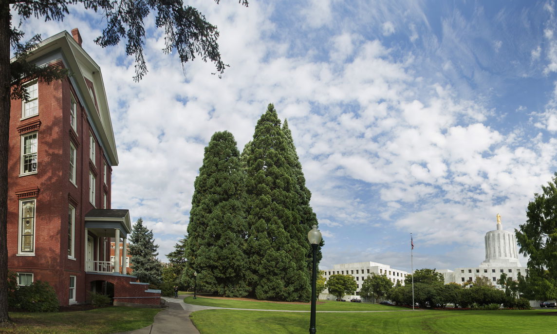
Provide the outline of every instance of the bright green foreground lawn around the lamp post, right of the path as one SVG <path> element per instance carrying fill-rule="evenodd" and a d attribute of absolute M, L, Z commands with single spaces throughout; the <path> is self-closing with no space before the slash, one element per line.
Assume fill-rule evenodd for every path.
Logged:
<path fill-rule="evenodd" d="M 553 313 L 548 315 L 544 313 Z M 307 333 L 309 313 L 206 310 L 193 312 L 201 334 Z M 377 313 L 317 313 L 317 333 L 374 334 L 525 334 L 552 333 L 557 312 L 414 311 Z"/>

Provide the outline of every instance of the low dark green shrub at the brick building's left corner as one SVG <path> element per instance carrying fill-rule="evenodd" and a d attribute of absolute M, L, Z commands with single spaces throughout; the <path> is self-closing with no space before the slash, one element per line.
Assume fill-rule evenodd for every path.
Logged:
<path fill-rule="evenodd" d="M 14 306 L 28 312 L 57 312 L 60 307 L 56 292 L 48 282 L 37 281 L 30 286 L 20 286 L 16 295 Z"/>

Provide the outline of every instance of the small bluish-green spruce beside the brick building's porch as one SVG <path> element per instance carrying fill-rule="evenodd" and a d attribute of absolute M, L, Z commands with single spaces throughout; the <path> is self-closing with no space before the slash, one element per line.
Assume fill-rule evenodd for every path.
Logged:
<path fill-rule="evenodd" d="M 157 259 L 159 245 L 155 245 L 153 231 L 143 225 L 139 218 L 130 235 L 131 274 L 140 282 L 160 285 L 162 264 Z"/>

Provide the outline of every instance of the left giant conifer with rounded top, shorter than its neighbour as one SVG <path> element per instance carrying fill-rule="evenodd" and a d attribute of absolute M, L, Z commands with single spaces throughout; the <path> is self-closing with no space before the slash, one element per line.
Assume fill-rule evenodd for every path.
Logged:
<path fill-rule="evenodd" d="M 246 296 L 244 174 L 230 132 L 211 137 L 194 188 L 185 245 L 187 276 L 197 272 L 203 291 Z"/>

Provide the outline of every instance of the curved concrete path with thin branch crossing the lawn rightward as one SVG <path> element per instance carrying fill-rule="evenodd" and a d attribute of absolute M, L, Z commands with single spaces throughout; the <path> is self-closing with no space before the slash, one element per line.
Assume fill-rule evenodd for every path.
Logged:
<path fill-rule="evenodd" d="M 168 334 L 184 333 L 198 334 L 196 326 L 193 326 L 189 318 L 190 313 L 201 310 L 238 310 L 238 311 L 268 311 L 268 312 L 310 312 L 310 311 L 289 311 L 289 310 L 259 310 L 257 308 L 231 308 L 201 306 L 184 303 L 184 298 L 189 294 L 182 294 L 178 298 L 162 297 L 168 305 L 163 311 L 155 316 L 153 325 L 140 328 L 130 332 L 120 332 L 116 334 Z M 385 310 L 385 311 L 317 311 L 317 313 L 377 313 L 377 312 L 407 312 L 412 310 Z"/>

